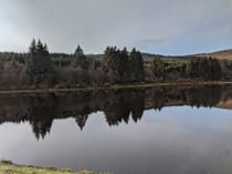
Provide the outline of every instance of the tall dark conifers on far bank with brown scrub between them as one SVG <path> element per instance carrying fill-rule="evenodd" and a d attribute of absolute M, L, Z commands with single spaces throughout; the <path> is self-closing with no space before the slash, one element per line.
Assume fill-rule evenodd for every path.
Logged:
<path fill-rule="evenodd" d="M 143 57 L 136 49 L 129 53 L 126 48 L 108 47 L 99 61 L 87 58 L 77 45 L 68 61 L 54 64 L 46 44 L 33 40 L 25 61 L 30 84 L 74 88 L 144 81 Z"/>

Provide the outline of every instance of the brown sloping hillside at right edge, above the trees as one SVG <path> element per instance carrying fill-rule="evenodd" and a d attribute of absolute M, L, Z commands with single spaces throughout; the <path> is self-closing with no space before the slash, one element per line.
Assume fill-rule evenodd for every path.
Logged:
<path fill-rule="evenodd" d="M 201 53 L 196 54 L 196 57 L 202 57 L 202 58 L 215 58 L 220 60 L 232 60 L 232 49 L 223 50 L 223 51 L 217 51 L 212 53 Z"/>

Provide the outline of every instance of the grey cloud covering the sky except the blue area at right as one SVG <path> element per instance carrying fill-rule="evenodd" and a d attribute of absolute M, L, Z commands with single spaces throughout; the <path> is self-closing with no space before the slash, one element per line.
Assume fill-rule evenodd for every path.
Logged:
<path fill-rule="evenodd" d="M 25 44 L 35 37 L 46 41 L 52 51 L 72 52 L 80 43 L 87 52 L 102 52 L 108 44 L 146 49 L 160 41 L 171 42 L 196 27 L 230 19 L 231 2 L 0 0 L 0 10 L 3 11 L 0 12 L 0 19 L 2 17 L 4 22 L 10 23 L 9 32 L 12 32 L 12 38 L 7 39 L 6 44 L 14 42 L 21 44 L 19 48 L 27 49 Z M 14 44 L 12 48 L 17 47 Z M 4 47 L 1 41 L 0 45 Z"/>

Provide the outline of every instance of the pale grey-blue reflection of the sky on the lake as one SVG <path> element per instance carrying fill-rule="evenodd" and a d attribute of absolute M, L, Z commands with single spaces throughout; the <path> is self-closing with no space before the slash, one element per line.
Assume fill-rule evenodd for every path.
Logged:
<path fill-rule="evenodd" d="M 190 106 L 144 112 L 141 121 L 108 126 L 93 113 L 81 132 L 56 120 L 39 142 L 31 126 L 0 125 L 0 157 L 73 170 L 114 173 L 207 174 L 232 171 L 232 111 Z"/>

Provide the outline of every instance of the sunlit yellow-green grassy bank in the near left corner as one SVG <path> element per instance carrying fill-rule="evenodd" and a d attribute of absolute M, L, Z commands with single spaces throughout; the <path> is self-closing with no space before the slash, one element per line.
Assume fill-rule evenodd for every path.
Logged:
<path fill-rule="evenodd" d="M 17 165 L 11 162 L 0 162 L 0 174 L 95 174 L 82 171 L 72 173 L 70 170 L 56 170 L 53 167 L 38 167 L 30 165 Z M 107 173 L 101 173 L 107 174 Z"/>

